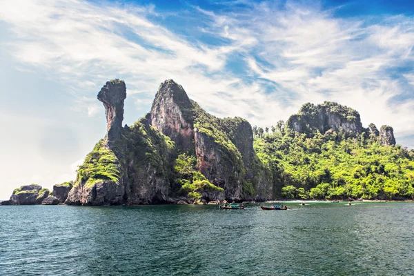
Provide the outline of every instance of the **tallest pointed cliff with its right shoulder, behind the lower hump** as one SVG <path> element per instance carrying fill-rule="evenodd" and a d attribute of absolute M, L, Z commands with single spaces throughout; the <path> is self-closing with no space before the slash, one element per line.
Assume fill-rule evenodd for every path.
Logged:
<path fill-rule="evenodd" d="M 224 189 L 224 193 L 201 192 L 207 199 L 257 198 L 243 190 L 246 179 L 253 181 L 253 164 L 258 162 L 248 121 L 208 114 L 172 80 L 161 83 L 150 118 L 152 126 L 175 141 L 177 150 L 195 155 L 197 168 L 208 181 Z"/>

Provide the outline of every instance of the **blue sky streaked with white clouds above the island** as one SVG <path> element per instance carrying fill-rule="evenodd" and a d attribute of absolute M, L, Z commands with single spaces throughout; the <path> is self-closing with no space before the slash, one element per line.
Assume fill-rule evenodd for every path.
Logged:
<path fill-rule="evenodd" d="M 174 79 L 219 117 L 272 126 L 337 101 L 414 148 L 414 1 L 0 4 L 0 199 L 75 179 L 105 136 L 96 97 L 114 78 L 126 81 L 124 124 Z"/>

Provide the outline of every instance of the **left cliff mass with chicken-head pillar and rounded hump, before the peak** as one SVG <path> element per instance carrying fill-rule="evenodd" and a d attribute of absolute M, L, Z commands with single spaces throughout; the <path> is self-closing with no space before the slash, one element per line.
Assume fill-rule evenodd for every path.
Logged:
<path fill-rule="evenodd" d="M 119 80 L 115 84 L 107 82 L 99 92 L 98 98 L 106 109 L 108 132 L 79 167 L 66 204 L 157 204 L 174 201 L 170 198 L 169 177 L 175 144 L 150 125 L 150 117 L 140 119 L 133 126 L 121 127 L 124 92 L 125 83 Z M 166 99 L 161 103 L 167 106 L 159 105 L 159 110 L 164 112 L 172 101 Z M 170 112 L 168 110 L 164 114 Z M 166 118 L 167 123 L 170 121 Z M 168 129 L 170 125 L 160 123 L 159 126 Z M 170 133 L 175 134 L 172 130 Z"/>

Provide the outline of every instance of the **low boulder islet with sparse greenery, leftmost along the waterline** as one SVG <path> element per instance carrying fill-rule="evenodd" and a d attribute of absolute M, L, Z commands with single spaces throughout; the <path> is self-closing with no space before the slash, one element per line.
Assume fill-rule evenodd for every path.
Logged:
<path fill-rule="evenodd" d="M 10 204 L 12 205 L 33 205 L 41 204 L 43 199 L 48 197 L 50 190 L 47 188 L 41 188 L 37 184 L 30 184 L 21 186 L 13 190 L 10 197 Z"/>

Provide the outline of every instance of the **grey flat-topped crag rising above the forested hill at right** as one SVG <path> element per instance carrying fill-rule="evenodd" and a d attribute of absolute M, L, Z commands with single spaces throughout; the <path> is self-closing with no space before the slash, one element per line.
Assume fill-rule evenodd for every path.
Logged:
<path fill-rule="evenodd" d="M 309 135 L 317 130 L 324 134 L 329 129 L 342 129 L 348 135 L 357 135 L 364 130 L 356 110 L 328 101 L 317 106 L 305 103 L 296 115 L 290 116 L 286 125 L 290 130 Z"/>

